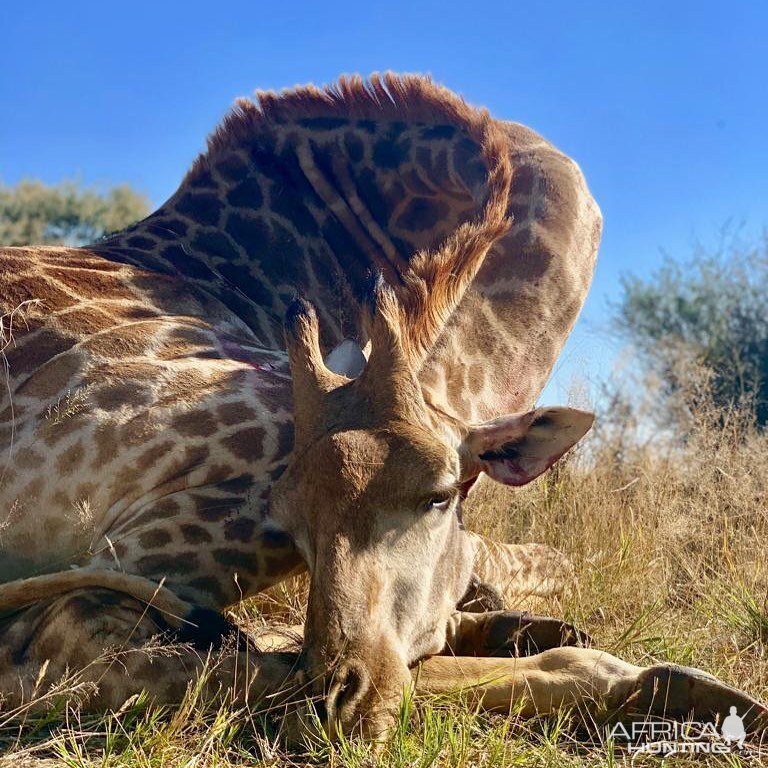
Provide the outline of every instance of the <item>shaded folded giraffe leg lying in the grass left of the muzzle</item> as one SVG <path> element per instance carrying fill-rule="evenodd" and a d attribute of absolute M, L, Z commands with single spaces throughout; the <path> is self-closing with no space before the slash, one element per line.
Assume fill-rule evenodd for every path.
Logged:
<path fill-rule="evenodd" d="M 106 589 L 70 592 L 5 618 L 0 722 L 61 700 L 118 709 L 142 691 L 154 703 L 179 704 L 198 678 L 203 696 L 242 703 L 286 692 L 287 699 L 297 654 L 261 654 L 242 643 L 212 654 L 210 633 L 200 647 L 193 635 L 174 645 L 168 627 L 155 609 Z"/>

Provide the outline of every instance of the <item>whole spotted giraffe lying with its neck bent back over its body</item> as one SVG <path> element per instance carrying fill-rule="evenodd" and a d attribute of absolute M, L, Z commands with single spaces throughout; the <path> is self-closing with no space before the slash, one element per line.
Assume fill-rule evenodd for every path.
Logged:
<path fill-rule="evenodd" d="M 212 691 L 307 679 L 332 732 L 373 736 L 412 680 L 490 708 L 736 704 L 762 723 L 696 670 L 457 610 L 473 570 L 501 583 L 520 556 L 464 531 L 461 498 L 481 472 L 532 480 L 591 424 L 530 408 L 600 226 L 542 138 L 386 76 L 238 102 L 144 221 L 88 248 L 2 251 L 4 706 L 79 668 L 94 708 L 178 702 L 232 629 L 222 611 L 308 570 L 301 654 L 235 648 Z M 158 635 L 182 646 L 143 650 Z M 483 658 L 521 636 L 548 650 Z"/>

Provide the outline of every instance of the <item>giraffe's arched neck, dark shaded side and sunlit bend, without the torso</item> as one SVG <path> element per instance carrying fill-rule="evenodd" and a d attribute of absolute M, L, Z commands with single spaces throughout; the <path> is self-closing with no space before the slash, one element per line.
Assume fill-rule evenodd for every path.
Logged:
<path fill-rule="evenodd" d="M 258 344 L 282 349 L 299 292 L 321 342 L 365 344 L 369 273 L 397 285 L 419 249 L 478 215 L 482 113 L 427 79 L 342 79 L 240 102 L 160 210 L 93 250 L 183 275 Z M 486 258 L 419 372 L 465 422 L 535 403 L 589 288 L 600 211 L 578 166 L 505 123 L 513 226 Z"/>

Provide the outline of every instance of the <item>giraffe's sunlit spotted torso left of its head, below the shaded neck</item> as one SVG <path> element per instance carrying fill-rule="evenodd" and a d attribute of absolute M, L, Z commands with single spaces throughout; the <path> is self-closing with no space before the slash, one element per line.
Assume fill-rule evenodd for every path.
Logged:
<path fill-rule="evenodd" d="M 6 353 L 17 375 L 5 580 L 110 567 L 222 608 L 290 573 L 295 553 L 276 532 L 263 558 L 254 546 L 270 472 L 290 450 L 284 355 L 254 344 L 215 300 L 185 301 L 172 278 L 72 256 L 3 256 L 22 302 L 41 281 L 49 296 L 69 281 L 55 308 L 15 317 L 23 332 Z M 185 314 L 168 311 L 177 301 Z M 25 375 L 16 361 L 48 343 L 54 354 Z"/>

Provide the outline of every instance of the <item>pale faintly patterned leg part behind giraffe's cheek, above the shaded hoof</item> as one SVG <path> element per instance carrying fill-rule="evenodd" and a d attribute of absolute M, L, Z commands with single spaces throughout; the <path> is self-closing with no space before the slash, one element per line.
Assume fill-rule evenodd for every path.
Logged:
<path fill-rule="evenodd" d="M 573 579 L 570 560 L 545 544 L 502 544 L 467 532 L 475 548 L 474 574 L 502 597 L 547 597 L 562 592 Z"/>

